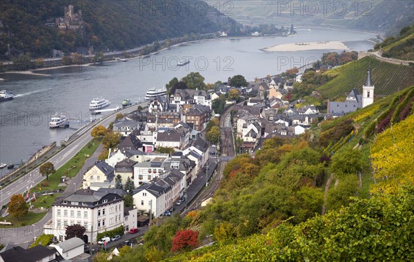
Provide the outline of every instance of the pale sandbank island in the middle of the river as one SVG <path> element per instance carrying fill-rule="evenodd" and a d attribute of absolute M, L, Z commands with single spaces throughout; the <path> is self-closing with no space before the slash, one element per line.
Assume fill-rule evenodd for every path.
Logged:
<path fill-rule="evenodd" d="M 339 41 L 321 41 L 321 42 L 308 42 L 308 43 L 284 43 L 282 45 L 270 46 L 263 48 L 264 52 L 295 52 L 306 50 L 349 50 L 344 43 Z"/>

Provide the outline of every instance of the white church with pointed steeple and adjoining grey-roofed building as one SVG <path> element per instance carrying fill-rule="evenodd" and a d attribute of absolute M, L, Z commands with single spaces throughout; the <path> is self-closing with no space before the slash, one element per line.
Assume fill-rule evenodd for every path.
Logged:
<path fill-rule="evenodd" d="M 328 114 L 333 117 L 339 117 L 349 112 L 354 112 L 358 108 L 364 108 L 374 103 L 374 88 L 371 79 L 371 66 L 368 66 L 365 84 L 362 85 L 362 95 L 354 88 L 346 97 L 344 102 L 328 101 Z"/>

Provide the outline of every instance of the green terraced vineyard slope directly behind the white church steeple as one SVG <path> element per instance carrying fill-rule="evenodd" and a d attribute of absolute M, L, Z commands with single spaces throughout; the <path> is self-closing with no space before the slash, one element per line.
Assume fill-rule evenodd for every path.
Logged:
<path fill-rule="evenodd" d="M 365 83 L 369 65 L 371 65 L 376 97 L 384 97 L 414 85 L 413 66 L 400 66 L 378 61 L 373 57 L 364 57 L 326 71 L 324 74 L 335 78 L 317 90 L 322 94 L 322 97 L 331 100 L 337 97 L 346 97 L 353 88 L 362 92 L 362 85 Z"/>

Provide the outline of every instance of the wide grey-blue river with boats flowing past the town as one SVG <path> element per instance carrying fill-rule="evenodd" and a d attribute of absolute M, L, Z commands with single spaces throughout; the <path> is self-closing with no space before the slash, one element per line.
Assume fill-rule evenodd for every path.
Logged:
<path fill-rule="evenodd" d="M 47 75 L 0 74 L 1 89 L 16 97 L 0 103 L 0 162 L 27 161 L 43 145 L 66 139 L 93 117 L 88 105 L 97 97 L 111 101 L 108 108 L 123 99 L 143 101 L 148 88 L 161 88 L 170 79 L 180 79 L 189 72 L 200 72 L 206 83 L 226 81 L 242 74 L 247 80 L 277 74 L 294 66 L 304 66 L 319 59 L 324 52 L 342 50 L 308 50 L 300 52 L 263 52 L 261 48 L 282 43 L 342 41 L 350 50 L 368 50 L 373 34 L 344 30 L 312 29 L 298 31 L 294 37 L 254 37 L 214 39 L 185 43 L 147 58 L 127 62 L 104 63 L 103 66 L 61 68 L 38 73 Z M 177 60 L 189 59 L 177 67 Z M 350 90 L 353 87 L 350 87 Z M 66 112 L 70 128 L 50 130 L 48 121 L 55 112 Z M 1 173 L 7 172 L 6 168 Z"/>

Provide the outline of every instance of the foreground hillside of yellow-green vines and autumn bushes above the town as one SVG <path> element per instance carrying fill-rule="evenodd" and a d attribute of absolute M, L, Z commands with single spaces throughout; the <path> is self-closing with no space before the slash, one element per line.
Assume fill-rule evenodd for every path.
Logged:
<path fill-rule="evenodd" d="M 226 165 L 212 203 L 163 219 L 112 261 L 413 260 L 413 105 L 411 86 L 298 139 L 268 139 Z M 181 239 L 176 251 L 180 232 L 213 245 Z"/>

